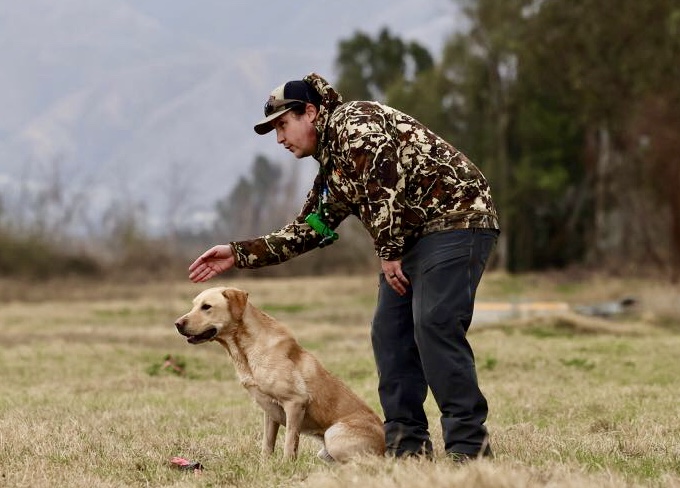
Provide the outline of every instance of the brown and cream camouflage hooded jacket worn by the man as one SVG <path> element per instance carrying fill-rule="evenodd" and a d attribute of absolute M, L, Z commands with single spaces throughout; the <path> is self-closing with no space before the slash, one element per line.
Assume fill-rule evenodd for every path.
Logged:
<path fill-rule="evenodd" d="M 320 170 L 297 218 L 282 229 L 231 242 L 236 266 L 282 263 L 316 248 L 322 236 L 305 217 L 327 189 L 325 221 L 358 217 L 381 259 L 400 259 L 420 236 L 471 227 L 498 229 L 489 185 L 464 154 L 414 118 L 377 102 L 343 103 L 319 75 L 306 76 L 322 96 L 317 116 Z"/>

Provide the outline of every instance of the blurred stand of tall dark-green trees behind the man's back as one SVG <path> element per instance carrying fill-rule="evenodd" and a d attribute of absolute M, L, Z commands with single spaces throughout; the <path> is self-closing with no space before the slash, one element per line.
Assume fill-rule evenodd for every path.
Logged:
<path fill-rule="evenodd" d="M 652 255 L 680 268 L 680 204 L 669 190 L 680 152 L 664 135 L 680 132 L 677 2 L 458 3 L 469 29 L 431 68 L 409 77 L 385 56 L 382 70 L 404 71 L 373 76 L 365 65 L 379 39 L 356 35 L 341 43 L 338 86 L 385 94 L 471 156 L 498 202 L 501 266 L 621 269 Z"/>

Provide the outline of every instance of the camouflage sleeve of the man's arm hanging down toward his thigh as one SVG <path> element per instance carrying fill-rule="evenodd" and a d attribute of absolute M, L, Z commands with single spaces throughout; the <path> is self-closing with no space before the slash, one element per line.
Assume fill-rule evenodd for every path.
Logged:
<path fill-rule="evenodd" d="M 366 192 L 376 254 L 395 260 L 402 257 L 404 248 L 406 179 L 398 145 L 378 122 L 355 125 L 361 131 L 349 138 L 350 158 Z"/>

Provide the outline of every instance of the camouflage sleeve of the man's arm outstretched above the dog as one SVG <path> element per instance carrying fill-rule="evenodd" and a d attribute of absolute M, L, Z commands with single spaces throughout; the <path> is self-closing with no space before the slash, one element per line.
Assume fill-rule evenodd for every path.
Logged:
<path fill-rule="evenodd" d="M 236 255 L 237 268 L 262 268 L 281 264 L 319 245 L 322 236 L 305 222 L 305 217 L 318 207 L 319 178 L 317 176 L 317 181 L 307 195 L 300 214 L 293 222 L 265 236 L 229 243 Z M 335 229 L 350 213 L 348 207 L 335 201 L 329 201 L 326 208 L 329 212 L 326 223 L 332 229 Z"/>

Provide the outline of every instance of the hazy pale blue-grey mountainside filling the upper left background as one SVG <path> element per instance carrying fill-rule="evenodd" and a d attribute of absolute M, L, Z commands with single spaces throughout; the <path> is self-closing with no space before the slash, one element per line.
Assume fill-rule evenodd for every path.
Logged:
<path fill-rule="evenodd" d="M 357 30 L 438 55 L 456 19 L 451 0 L 3 2 L 0 195 L 11 208 L 58 167 L 93 219 L 120 199 L 159 225 L 179 198 L 206 215 L 256 154 L 288 158 L 252 130 L 274 86 L 333 80 Z M 316 164 L 299 164 L 309 179 Z"/>

